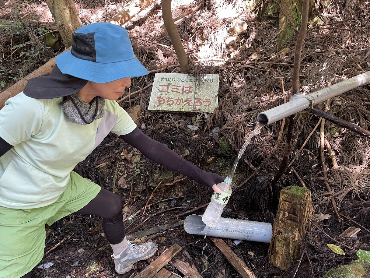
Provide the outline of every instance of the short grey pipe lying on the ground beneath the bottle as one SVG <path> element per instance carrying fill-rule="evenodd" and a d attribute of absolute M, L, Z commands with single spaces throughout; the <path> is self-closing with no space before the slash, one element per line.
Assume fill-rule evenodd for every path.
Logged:
<path fill-rule="evenodd" d="M 192 214 L 185 218 L 184 230 L 192 235 L 232 238 L 270 243 L 272 226 L 270 223 L 237 220 L 221 217 L 216 227 L 208 227 L 202 221 L 202 215 Z"/>

